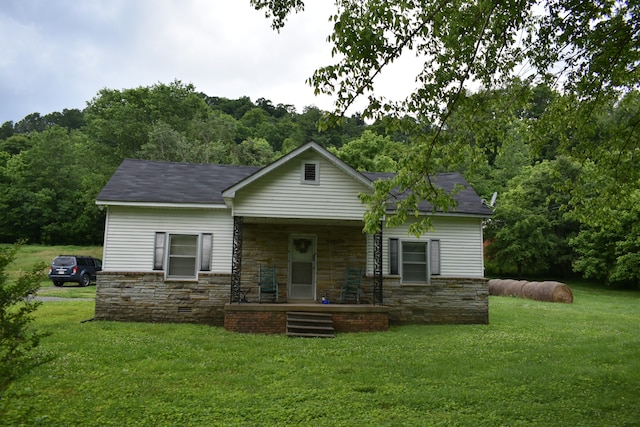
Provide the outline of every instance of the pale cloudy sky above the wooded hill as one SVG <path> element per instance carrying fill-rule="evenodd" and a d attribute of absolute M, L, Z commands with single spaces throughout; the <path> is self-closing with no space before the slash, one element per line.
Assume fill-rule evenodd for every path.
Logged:
<path fill-rule="evenodd" d="M 332 12 L 330 0 L 307 0 L 278 33 L 249 0 L 0 0 L 0 124 L 83 109 L 103 88 L 174 80 L 329 110 L 305 81 L 335 62 Z M 391 74 L 387 91 L 403 80 Z"/>

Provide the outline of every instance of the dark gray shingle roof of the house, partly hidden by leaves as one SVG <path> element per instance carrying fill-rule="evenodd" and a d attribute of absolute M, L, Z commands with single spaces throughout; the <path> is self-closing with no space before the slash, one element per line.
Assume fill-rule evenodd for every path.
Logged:
<path fill-rule="evenodd" d="M 260 167 L 174 163 L 126 159 L 98 194 L 101 203 L 224 204 L 222 192 L 254 174 Z M 371 181 L 392 177 L 393 173 L 364 172 Z M 465 189 L 455 195 L 455 212 L 490 216 L 491 209 L 459 173 L 438 174 L 438 187 L 451 191 L 456 184 Z M 431 211 L 428 203 L 420 209 Z"/>

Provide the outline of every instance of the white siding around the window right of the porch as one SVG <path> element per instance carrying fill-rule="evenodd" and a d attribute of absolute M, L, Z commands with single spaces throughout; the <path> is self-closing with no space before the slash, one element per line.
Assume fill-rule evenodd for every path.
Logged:
<path fill-rule="evenodd" d="M 417 238 L 409 235 L 409 224 L 382 232 L 383 274 L 389 273 L 389 239 L 400 241 L 440 240 L 440 275 L 444 277 L 483 277 L 482 219 L 433 217 L 433 230 Z M 368 236 L 367 270 L 373 273 L 373 237 Z"/>

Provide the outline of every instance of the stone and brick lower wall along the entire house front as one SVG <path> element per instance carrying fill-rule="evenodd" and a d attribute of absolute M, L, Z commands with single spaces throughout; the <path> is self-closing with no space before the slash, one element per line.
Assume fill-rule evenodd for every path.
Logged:
<path fill-rule="evenodd" d="M 198 281 L 164 281 L 162 273 L 98 274 L 95 318 L 138 322 L 203 323 L 238 332 L 283 333 L 286 312 L 297 304 L 229 304 L 231 277 L 200 273 Z M 489 290 L 484 278 L 434 277 L 429 285 L 384 278 L 384 306 L 371 301 L 371 278 L 363 280 L 363 304 L 308 304 L 330 311 L 336 332 L 387 330 L 389 324 L 487 324 Z M 252 308 L 253 307 L 253 308 Z M 270 308 L 272 307 L 272 308 Z"/>

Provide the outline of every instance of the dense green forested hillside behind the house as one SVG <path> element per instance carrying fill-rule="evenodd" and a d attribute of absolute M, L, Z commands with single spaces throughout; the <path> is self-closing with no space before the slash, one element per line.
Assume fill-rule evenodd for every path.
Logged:
<path fill-rule="evenodd" d="M 580 274 L 640 281 L 640 98 L 590 111 L 590 127 L 554 127 L 573 100 L 522 82 L 467 94 L 442 132 L 429 169 L 460 171 L 486 200 L 487 267 L 505 274 Z M 95 197 L 124 158 L 266 165 L 315 141 L 359 170 L 394 171 L 415 135 L 386 117 L 334 126 L 326 112 L 269 100 L 207 96 L 174 81 L 103 89 L 83 111 L 63 110 L 0 128 L 0 242 L 101 244 Z M 322 131 L 319 129 L 323 129 Z M 581 147 L 573 155 L 571 147 Z M 585 155 L 584 147 L 587 147 Z M 569 149 L 567 149 L 569 147 Z"/>

